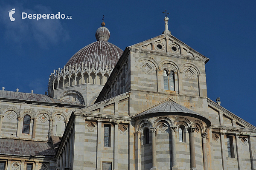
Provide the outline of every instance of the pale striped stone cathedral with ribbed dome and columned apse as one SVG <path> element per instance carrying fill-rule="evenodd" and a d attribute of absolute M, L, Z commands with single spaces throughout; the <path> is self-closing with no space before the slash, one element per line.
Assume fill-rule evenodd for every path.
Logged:
<path fill-rule="evenodd" d="M 255 170 L 256 127 L 207 97 L 168 29 L 122 51 L 102 26 L 45 95 L 0 91 L 0 170 Z"/>

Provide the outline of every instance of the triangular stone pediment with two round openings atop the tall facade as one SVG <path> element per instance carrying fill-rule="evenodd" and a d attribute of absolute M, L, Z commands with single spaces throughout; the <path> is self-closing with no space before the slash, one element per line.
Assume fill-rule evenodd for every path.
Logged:
<path fill-rule="evenodd" d="M 209 58 L 195 51 L 193 48 L 189 47 L 189 45 L 186 45 L 171 34 L 161 34 L 149 40 L 131 45 L 128 48 L 188 57 L 191 59 L 203 59 L 205 62 L 209 60 Z"/>

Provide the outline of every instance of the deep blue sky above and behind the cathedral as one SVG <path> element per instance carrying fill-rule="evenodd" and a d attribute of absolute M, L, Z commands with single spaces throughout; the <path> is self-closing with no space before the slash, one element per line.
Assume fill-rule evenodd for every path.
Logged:
<path fill-rule="evenodd" d="M 102 15 L 109 42 L 124 50 L 160 35 L 166 9 L 172 35 L 210 59 L 208 97 L 220 97 L 224 108 L 256 125 L 255 6 L 255 0 L 0 1 L 0 87 L 44 94 L 51 72 L 96 41 Z M 21 12 L 60 12 L 72 19 L 21 19 Z"/>

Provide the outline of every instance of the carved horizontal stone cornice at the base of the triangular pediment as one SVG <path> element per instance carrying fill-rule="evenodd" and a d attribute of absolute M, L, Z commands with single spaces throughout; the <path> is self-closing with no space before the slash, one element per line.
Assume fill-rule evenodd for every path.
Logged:
<path fill-rule="evenodd" d="M 207 59 L 200 59 L 200 58 L 192 58 L 192 57 L 185 57 L 181 55 L 173 55 L 173 54 L 165 54 L 158 51 L 147 51 L 147 50 L 138 50 L 138 49 L 130 49 L 131 52 L 137 52 L 141 54 L 152 54 L 157 56 L 164 56 L 164 57 L 173 57 L 173 58 L 179 58 L 179 59 L 189 59 L 194 61 L 207 61 Z"/>

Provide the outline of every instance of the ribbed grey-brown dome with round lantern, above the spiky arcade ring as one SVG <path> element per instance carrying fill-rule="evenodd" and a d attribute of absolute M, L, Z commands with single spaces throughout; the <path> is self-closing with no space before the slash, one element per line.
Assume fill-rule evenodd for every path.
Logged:
<path fill-rule="evenodd" d="M 95 34 L 96 42 L 93 42 L 81 50 L 79 50 L 65 65 L 82 65 L 82 63 L 90 66 L 96 66 L 101 64 L 102 66 L 111 65 L 115 66 L 118 59 L 122 55 L 122 50 L 116 45 L 108 42 L 110 37 L 110 32 L 108 28 L 105 27 L 105 23 L 102 27 L 98 28 Z"/>

